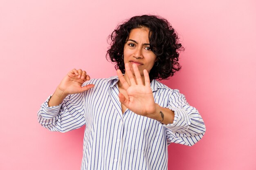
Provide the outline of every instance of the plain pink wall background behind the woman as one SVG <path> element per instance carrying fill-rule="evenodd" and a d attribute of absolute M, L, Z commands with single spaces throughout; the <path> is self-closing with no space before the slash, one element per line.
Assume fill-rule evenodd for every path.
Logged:
<path fill-rule="evenodd" d="M 256 2 L 254 0 L 1 0 L 0 169 L 79 170 L 83 128 L 50 132 L 40 104 L 65 74 L 116 75 L 107 37 L 133 15 L 161 15 L 185 51 L 168 81 L 207 127 L 195 146 L 171 144 L 169 170 L 255 170 Z"/>

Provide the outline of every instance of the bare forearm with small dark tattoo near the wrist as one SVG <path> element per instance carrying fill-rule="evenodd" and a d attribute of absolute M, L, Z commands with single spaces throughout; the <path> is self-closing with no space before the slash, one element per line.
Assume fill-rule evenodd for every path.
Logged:
<path fill-rule="evenodd" d="M 162 124 L 172 124 L 174 120 L 174 112 L 168 108 L 163 108 L 155 104 L 155 113 L 148 115 L 151 119 L 160 121 Z"/>

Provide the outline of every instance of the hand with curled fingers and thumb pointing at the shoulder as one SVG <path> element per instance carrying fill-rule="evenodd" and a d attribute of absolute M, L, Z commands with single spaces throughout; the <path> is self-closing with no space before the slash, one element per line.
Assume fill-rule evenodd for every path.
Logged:
<path fill-rule="evenodd" d="M 61 83 L 58 85 L 57 89 L 62 91 L 63 95 L 65 96 L 69 94 L 82 93 L 83 91 L 87 91 L 90 88 L 94 87 L 93 84 L 88 84 L 81 87 L 82 84 L 87 80 L 90 80 L 90 76 L 86 75 L 85 71 L 82 71 L 81 69 L 72 69 L 61 80 Z"/>

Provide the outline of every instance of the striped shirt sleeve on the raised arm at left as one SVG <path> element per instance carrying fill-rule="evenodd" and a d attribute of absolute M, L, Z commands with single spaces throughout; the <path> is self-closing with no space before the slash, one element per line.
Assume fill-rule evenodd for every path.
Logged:
<path fill-rule="evenodd" d="M 82 86 L 88 84 L 84 83 Z M 85 93 L 67 95 L 58 106 L 48 105 L 49 96 L 38 111 L 38 122 L 51 131 L 67 132 L 85 125 Z"/>

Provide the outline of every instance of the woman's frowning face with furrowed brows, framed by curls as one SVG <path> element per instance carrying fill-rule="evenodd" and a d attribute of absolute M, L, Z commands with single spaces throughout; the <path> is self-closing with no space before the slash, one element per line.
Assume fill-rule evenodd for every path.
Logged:
<path fill-rule="evenodd" d="M 149 73 L 155 64 L 156 55 L 150 49 L 148 33 L 148 28 L 132 29 L 124 44 L 124 63 L 130 64 L 132 73 L 132 64 L 138 66 L 141 75 L 144 69 Z"/>

